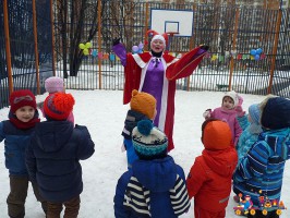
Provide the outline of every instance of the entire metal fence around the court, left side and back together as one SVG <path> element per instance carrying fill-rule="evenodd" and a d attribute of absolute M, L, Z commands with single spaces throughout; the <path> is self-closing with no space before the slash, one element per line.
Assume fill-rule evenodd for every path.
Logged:
<path fill-rule="evenodd" d="M 5 27 L 4 2 L 9 43 L 4 35 L 7 31 L 2 31 Z M 76 1 L 68 2 L 71 3 L 71 9 Z M 92 34 L 94 26 L 97 32 L 89 38 L 89 55 L 82 56 L 81 68 L 75 73 L 72 72 L 71 57 L 64 50 L 72 49 L 70 37 L 73 29 L 77 32 L 77 23 L 71 22 L 71 13 L 74 12 L 68 10 L 64 20 L 67 26 L 62 28 L 63 14 L 59 13 L 58 3 L 59 1 L 50 0 L 0 2 L 0 108 L 8 106 L 11 84 L 12 89 L 29 88 L 35 94 L 40 94 L 44 92 L 44 80 L 52 74 L 63 76 L 67 88 L 70 89 L 123 89 L 123 66 L 111 51 L 111 41 L 121 37 L 128 51 L 141 41 L 148 41 L 146 32 L 150 28 L 152 9 L 194 12 L 193 36 L 171 38 L 169 51 L 173 56 L 180 57 L 201 44 L 210 47 L 209 55 L 196 71 L 190 77 L 178 81 L 179 89 L 234 89 L 245 94 L 271 93 L 290 97 L 289 9 L 89 1 L 86 9 L 97 9 L 98 19 L 93 22 L 94 13 L 83 14 L 81 43 L 88 41 L 87 36 Z M 7 56 L 8 46 L 10 56 Z M 250 56 L 251 50 L 256 48 L 263 50 L 258 60 Z M 145 46 L 145 50 L 148 50 L 148 46 Z M 82 50 L 78 49 L 77 52 Z M 10 57 L 11 68 L 7 57 Z"/>

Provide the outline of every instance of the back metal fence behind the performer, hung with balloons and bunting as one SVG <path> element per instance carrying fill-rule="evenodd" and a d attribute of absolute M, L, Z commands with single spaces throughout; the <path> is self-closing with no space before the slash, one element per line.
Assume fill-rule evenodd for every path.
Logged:
<path fill-rule="evenodd" d="M 289 9 L 123 1 L 105 1 L 101 7 L 104 13 L 98 22 L 101 34 L 92 38 L 92 52 L 83 57 L 77 76 L 67 78 L 68 88 L 122 89 L 123 68 L 111 52 L 112 39 L 121 37 L 131 52 L 132 46 L 149 40 L 146 38 L 146 31 L 150 27 L 150 10 L 167 9 L 194 12 L 193 36 L 173 37 L 170 52 L 182 56 L 197 45 L 210 46 L 209 55 L 204 58 L 196 72 L 189 78 L 180 80 L 178 88 L 231 88 L 245 94 L 271 93 L 290 97 Z M 55 27 L 59 28 L 58 26 L 58 20 L 55 20 Z M 86 26 L 84 36 L 90 29 L 89 20 Z M 56 35 L 58 37 L 61 36 Z M 86 43 L 85 38 L 83 40 Z M 263 49 L 259 60 L 250 56 L 250 51 L 256 48 Z M 57 53 L 61 56 L 61 51 Z M 70 75 L 70 72 L 67 73 Z M 57 74 L 63 75 L 61 61 L 57 63 Z"/>

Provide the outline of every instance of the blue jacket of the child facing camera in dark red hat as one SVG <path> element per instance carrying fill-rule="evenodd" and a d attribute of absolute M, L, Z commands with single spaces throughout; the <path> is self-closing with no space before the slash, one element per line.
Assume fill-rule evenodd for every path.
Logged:
<path fill-rule="evenodd" d="M 25 166 L 25 149 L 34 128 L 21 130 L 9 120 L 0 122 L 0 142 L 4 140 L 5 167 L 12 175 L 28 175 Z"/>

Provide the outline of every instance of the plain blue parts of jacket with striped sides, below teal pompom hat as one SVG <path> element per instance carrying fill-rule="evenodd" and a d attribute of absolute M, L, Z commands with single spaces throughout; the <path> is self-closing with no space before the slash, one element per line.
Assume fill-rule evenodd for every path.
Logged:
<path fill-rule="evenodd" d="M 136 160 L 132 170 L 121 175 L 116 187 L 114 216 L 117 218 L 140 218 L 131 207 L 123 205 L 124 195 L 131 177 L 135 177 L 140 183 L 149 190 L 150 215 L 153 218 L 177 218 L 171 206 L 169 190 L 174 186 L 177 174 L 182 179 L 185 186 L 183 169 L 176 165 L 172 157 L 162 159 Z M 188 193 L 186 193 L 188 196 Z"/>

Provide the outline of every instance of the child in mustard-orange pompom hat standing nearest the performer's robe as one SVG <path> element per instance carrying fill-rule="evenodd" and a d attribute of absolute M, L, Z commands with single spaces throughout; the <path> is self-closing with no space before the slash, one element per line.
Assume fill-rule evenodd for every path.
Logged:
<path fill-rule="evenodd" d="M 122 131 L 129 169 L 131 169 L 132 164 L 138 159 L 132 144 L 132 131 L 137 125 L 138 121 L 154 120 L 156 116 L 156 99 L 150 94 L 138 93 L 134 89 L 132 92 L 130 107 L 131 109 L 126 113 L 124 129 Z"/>

